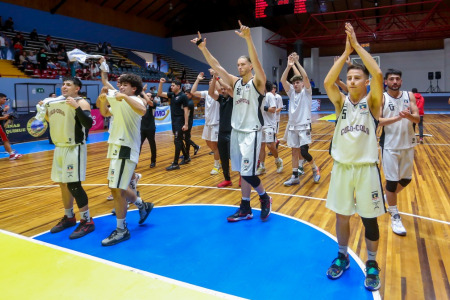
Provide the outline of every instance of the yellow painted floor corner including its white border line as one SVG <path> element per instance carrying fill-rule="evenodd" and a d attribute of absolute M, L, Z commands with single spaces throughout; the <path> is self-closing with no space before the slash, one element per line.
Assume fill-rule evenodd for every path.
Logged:
<path fill-rule="evenodd" d="M 3 230 L 0 245 L 2 299 L 241 299 Z"/>

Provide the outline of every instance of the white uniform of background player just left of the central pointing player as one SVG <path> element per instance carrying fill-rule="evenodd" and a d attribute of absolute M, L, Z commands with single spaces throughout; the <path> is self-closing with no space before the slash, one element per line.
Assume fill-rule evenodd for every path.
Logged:
<path fill-rule="evenodd" d="M 202 139 L 217 142 L 219 136 L 220 104 L 208 91 L 201 91 L 201 97 L 205 99 L 205 126 L 203 127 Z"/>

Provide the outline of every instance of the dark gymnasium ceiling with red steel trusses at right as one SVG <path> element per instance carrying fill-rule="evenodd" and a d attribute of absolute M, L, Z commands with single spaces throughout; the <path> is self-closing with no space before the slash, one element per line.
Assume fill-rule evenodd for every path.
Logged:
<path fill-rule="evenodd" d="M 73 1 L 50 0 L 48 9 L 65 14 L 64 6 L 70 2 Z M 370 43 L 377 52 L 389 52 L 393 47 L 397 51 L 439 49 L 443 48 L 443 39 L 450 37 L 450 0 L 307 0 L 307 13 L 263 19 L 255 18 L 255 0 L 77 2 L 85 2 L 104 14 L 125 14 L 140 24 L 156 22 L 156 27 L 164 28 L 161 35 L 165 37 L 191 35 L 198 30 L 206 33 L 237 29 L 241 20 L 250 27 L 263 26 L 277 33 L 268 42 L 287 49 L 297 40 L 302 40 L 305 48 L 320 47 L 321 52 L 337 46 L 341 49 L 345 39 L 343 26 L 348 20 L 355 27 L 359 41 Z"/>

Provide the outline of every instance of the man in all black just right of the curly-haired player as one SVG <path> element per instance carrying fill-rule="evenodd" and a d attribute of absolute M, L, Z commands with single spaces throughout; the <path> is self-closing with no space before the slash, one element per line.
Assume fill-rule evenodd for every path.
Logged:
<path fill-rule="evenodd" d="M 154 168 L 156 166 L 156 142 L 155 142 L 155 116 L 153 115 L 153 109 L 156 107 L 156 103 L 153 99 L 153 95 L 151 93 L 147 93 L 148 99 L 145 99 L 147 102 L 147 111 L 145 115 L 142 117 L 141 121 L 141 151 L 142 144 L 144 144 L 145 139 L 148 140 L 150 144 L 150 168 Z"/>

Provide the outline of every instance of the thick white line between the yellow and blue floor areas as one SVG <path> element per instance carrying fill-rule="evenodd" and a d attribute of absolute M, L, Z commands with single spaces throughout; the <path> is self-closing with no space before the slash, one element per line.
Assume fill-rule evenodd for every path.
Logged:
<path fill-rule="evenodd" d="M 172 278 L 169 278 L 169 277 L 164 277 L 164 276 L 157 275 L 157 274 L 154 274 L 154 273 L 146 272 L 146 271 L 143 271 L 143 270 L 140 270 L 140 269 L 136 269 L 136 268 L 132 268 L 132 267 L 129 267 L 129 266 L 126 266 L 126 265 L 118 264 L 118 263 L 115 263 L 115 262 L 112 262 L 112 261 L 109 261 L 109 260 L 106 260 L 106 259 L 102 259 L 102 258 L 99 258 L 99 257 L 96 257 L 96 256 L 92 256 L 92 255 L 89 255 L 89 254 L 86 254 L 86 253 L 78 252 L 78 251 L 75 251 L 75 250 L 71 250 L 71 249 L 63 248 L 63 247 L 56 246 L 56 245 L 53 245 L 53 244 L 49 244 L 49 243 L 46 243 L 46 242 L 43 242 L 43 241 L 35 240 L 33 238 L 29 238 L 29 237 L 26 237 L 26 236 L 23 236 L 23 235 L 12 233 L 12 232 L 9 232 L 9 231 L 3 230 L 3 229 L 0 229 L 0 232 L 4 233 L 6 235 L 9 235 L 9 236 L 15 237 L 15 238 L 19 238 L 19 239 L 28 241 L 28 242 L 32 242 L 32 243 L 35 243 L 35 244 L 38 244 L 38 245 L 43 245 L 43 246 L 46 246 L 46 247 L 49 247 L 49 248 L 52 248 L 52 249 L 56 249 L 56 250 L 59 250 L 59 251 L 62 251 L 62 252 L 70 253 L 70 254 L 73 254 L 73 255 L 76 255 L 76 256 L 79 256 L 79 257 L 83 257 L 83 258 L 86 258 L 86 259 L 89 259 L 89 260 L 93 260 L 93 261 L 96 261 L 96 262 L 99 262 L 99 263 L 102 263 L 102 264 L 105 264 L 105 265 L 109 265 L 109 266 L 112 266 L 112 267 L 115 267 L 115 268 L 118 268 L 118 269 L 122 269 L 122 270 L 125 270 L 125 271 L 130 271 L 130 272 L 133 272 L 133 273 L 141 274 L 141 275 L 144 275 L 146 277 L 150 277 L 152 279 L 161 280 L 161 281 L 169 283 L 169 284 L 181 286 L 181 287 L 188 288 L 188 289 L 191 289 L 191 290 L 194 290 L 194 291 L 198 291 L 198 292 L 201 292 L 201 293 L 204 293 L 204 294 L 220 297 L 222 299 L 245 299 L 245 298 L 241 298 L 241 297 L 237 297 L 237 296 L 221 293 L 221 292 L 218 292 L 218 291 L 210 290 L 210 289 L 207 289 L 207 288 L 203 288 L 203 287 L 200 287 L 200 286 L 197 286 L 197 285 L 189 284 L 187 282 L 178 281 L 178 280 L 175 280 L 175 279 L 172 279 Z"/>

